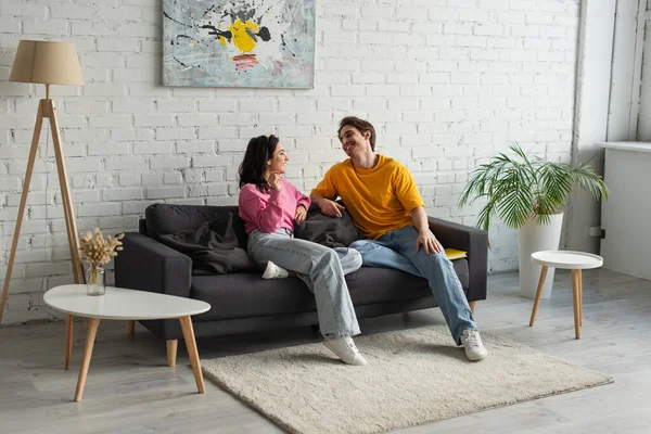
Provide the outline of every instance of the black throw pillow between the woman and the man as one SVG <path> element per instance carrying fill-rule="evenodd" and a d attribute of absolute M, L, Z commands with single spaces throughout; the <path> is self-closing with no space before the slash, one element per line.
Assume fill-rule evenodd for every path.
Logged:
<path fill-rule="evenodd" d="M 312 241 L 328 247 L 347 247 L 363 237 L 357 231 L 348 210 L 342 209 L 342 217 L 329 217 L 318 206 L 311 205 L 305 221 L 294 225 L 294 237 Z"/>

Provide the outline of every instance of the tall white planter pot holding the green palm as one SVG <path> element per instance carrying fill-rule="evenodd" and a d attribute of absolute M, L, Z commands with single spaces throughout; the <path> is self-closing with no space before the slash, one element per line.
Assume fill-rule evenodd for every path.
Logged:
<path fill-rule="evenodd" d="M 563 214 L 549 216 L 549 225 L 536 225 L 529 221 L 518 231 L 518 253 L 520 265 L 520 295 L 535 298 L 540 279 L 540 266 L 532 263 L 532 253 L 539 251 L 558 251 L 561 243 Z M 554 269 L 547 270 L 542 298 L 551 296 Z"/>

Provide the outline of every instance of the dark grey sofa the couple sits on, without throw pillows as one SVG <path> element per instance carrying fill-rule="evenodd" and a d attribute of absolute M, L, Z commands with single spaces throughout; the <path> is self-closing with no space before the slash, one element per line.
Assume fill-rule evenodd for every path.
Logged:
<path fill-rule="evenodd" d="M 124 251 L 115 258 L 115 284 L 209 303 L 210 310 L 193 317 L 197 337 L 318 324 L 314 295 L 299 279 L 264 280 L 259 270 L 193 276 L 190 257 L 158 241 L 159 235 L 197 228 L 228 213 L 239 245 L 246 248 L 237 206 L 151 205 L 139 232 L 123 239 Z M 468 259 L 454 261 L 455 270 L 469 302 L 485 299 L 486 232 L 432 217 L 430 227 L 444 246 L 468 252 Z M 346 281 L 358 318 L 437 306 L 426 280 L 403 271 L 362 267 Z M 182 339 L 179 321 L 140 322 L 166 341 Z"/>

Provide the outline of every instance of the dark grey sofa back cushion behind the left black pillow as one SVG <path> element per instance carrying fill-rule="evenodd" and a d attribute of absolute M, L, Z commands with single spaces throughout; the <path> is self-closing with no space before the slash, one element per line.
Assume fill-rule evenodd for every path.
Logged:
<path fill-rule="evenodd" d="M 163 234 L 196 229 L 206 221 L 228 214 L 232 217 L 232 226 L 238 235 L 239 246 L 246 250 L 248 237 L 244 230 L 244 221 L 238 214 L 237 206 L 153 204 L 144 210 L 146 233 L 157 240 Z"/>

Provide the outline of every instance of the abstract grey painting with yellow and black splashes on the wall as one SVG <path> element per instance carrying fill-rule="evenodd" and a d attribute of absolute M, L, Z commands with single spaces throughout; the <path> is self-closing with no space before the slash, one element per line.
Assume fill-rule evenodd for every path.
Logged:
<path fill-rule="evenodd" d="M 316 0 L 164 0 L 163 85 L 314 87 Z"/>

